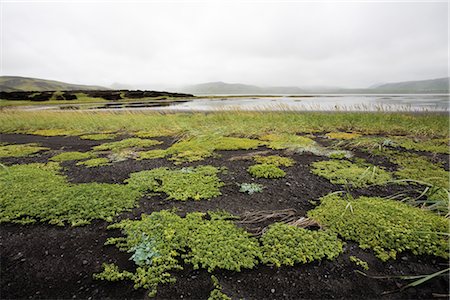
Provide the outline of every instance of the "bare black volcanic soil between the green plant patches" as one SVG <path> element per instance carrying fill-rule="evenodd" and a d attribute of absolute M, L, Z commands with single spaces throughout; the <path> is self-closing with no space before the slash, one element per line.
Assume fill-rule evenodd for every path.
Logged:
<path fill-rule="evenodd" d="M 41 137 L 33 135 L 0 135 L 1 142 L 40 143 L 52 150 L 27 158 L 0 159 L 0 163 L 44 162 L 61 151 L 88 151 L 102 141 L 81 140 L 76 137 Z M 161 139 L 161 147 L 168 147 L 170 138 Z M 104 141 L 103 141 L 104 142 Z M 159 146 L 156 146 L 159 147 Z M 155 147 L 153 147 L 155 148 Z M 150 148 L 151 149 L 151 148 Z M 219 151 L 204 161 L 181 166 L 213 165 L 226 167 L 219 176 L 225 183 L 222 195 L 209 201 L 169 201 L 164 195 L 145 196 L 139 207 L 123 213 L 118 220 L 139 218 L 142 213 L 150 214 L 161 209 L 178 208 L 184 215 L 192 211 L 226 210 L 241 215 L 248 211 L 295 209 L 298 216 L 305 216 L 314 207 L 314 201 L 342 186 L 310 173 L 310 164 L 326 158 L 312 154 L 294 154 L 296 164 L 284 168 L 286 177 L 269 180 L 254 179 L 246 169 L 253 164 L 245 156 L 256 152 L 283 154 L 269 149 L 249 151 Z M 355 153 L 356 156 L 393 170 L 394 165 L 383 159 Z M 84 168 L 75 163 L 63 163 L 64 173 L 73 183 L 108 182 L 122 184 L 130 173 L 156 167 L 174 167 L 165 159 L 126 160 L 111 166 Z M 180 167 L 181 167 L 180 166 Z M 246 195 L 239 192 L 240 183 L 257 182 L 264 185 L 262 193 Z M 354 196 L 389 196 L 405 187 L 388 185 L 354 190 Z M 410 191 L 414 193 L 414 191 Z M 56 227 L 45 224 L 15 225 L 0 227 L 1 250 L 1 298 L 2 299 L 143 299 L 148 298 L 145 290 L 134 290 L 131 282 L 106 282 L 94 280 L 92 274 L 100 272 L 102 263 L 116 263 L 121 268 L 133 269 L 130 254 L 120 252 L 114 246 L 105 246 L 107 238 L 119 236 L 116 230 L 107 230 L 108 223 L 93 222 L 84 227 Z M 448 276 L 435 278 L 416 288 L 400 291 L 405 285 L 401 279 L 374 279 L 363 276 L 355 270 L 349 256 L 356 256 L 368 262 L 369 275 L 420 275 L 437 272 L 448 267 L 448 262 L 433 257 L 400 255 L 397 260 L 381 262 L 372 251 L 362 250 L 348 242 L 344 253 L 334 261 L 320 261 L 294 267 L 259 266 L 242 272 L 216 271 L 214 275 L 223 286 L 223 291 L 233 299 L 429 299 L 433 295 L 449 293 Z M 174 272 L 176 283 L 161 285 L 157 299 L 207 299 L 213 286 L 205 270 L 184 270 Z M 383 295 L 385 292 L 391 292 Z"/>

